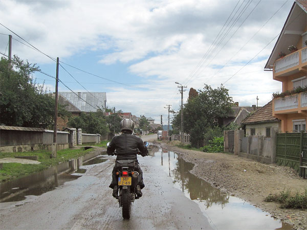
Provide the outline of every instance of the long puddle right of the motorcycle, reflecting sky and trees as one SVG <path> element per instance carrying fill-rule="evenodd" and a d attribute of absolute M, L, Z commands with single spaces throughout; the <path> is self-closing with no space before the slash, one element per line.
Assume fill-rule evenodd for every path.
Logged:
<path fill-rule="evenodd" d="M 177 153 L 154 147 L 149 155 L 173 180 L 174 187 L 196 202 L 215 229 L 292 229 L 248 202 L 222 192 L 189 173 L 193 164 Z"/>

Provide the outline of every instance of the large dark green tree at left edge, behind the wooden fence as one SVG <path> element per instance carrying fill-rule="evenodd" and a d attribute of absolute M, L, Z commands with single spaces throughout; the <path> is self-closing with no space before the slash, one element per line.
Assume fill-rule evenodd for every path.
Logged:
<path fill-rule="evenodd" d="M 0 123 L 8 126 L 52 128 L 55 99 L 43 85 L 37 85 L 32 74 L 39 67 L 14 56 L 12 68 L 8 60 L 0 60 Z M 68 112 L 58 106 L 58 116 Z"/>

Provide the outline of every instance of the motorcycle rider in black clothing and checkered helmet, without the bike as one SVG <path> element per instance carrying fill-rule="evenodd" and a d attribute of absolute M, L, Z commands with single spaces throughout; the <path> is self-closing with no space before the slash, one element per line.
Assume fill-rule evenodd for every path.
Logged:
<path fill-rule="evenodd" d="M 137 167 L 135 171 L 139 173 L 139 184 L 137 185 L 137 196 L 142 196 L 142 189 L 145 187 L 143 182 L 143 172 L 138 163 L 137 153 L 140 151 L 142 156 L 148 155 L 147 147 L 144 145 L 142 139 L 139 136 L 133 135 L 134 122 L 131 119 L 123 119 L 120 122 L 120 128 L 122 134 L 114 136 L 111 143 L 106 149 L 108 155 L 113 155 L 116 150 L 116 160 L 135 159 L 137 161 Z M 113 189 L 113 196 L 118 198 L 118 181 L 116 172 L 118 171 L 115 164 L 112 171 L 112 182 L 109 188 Z"/>

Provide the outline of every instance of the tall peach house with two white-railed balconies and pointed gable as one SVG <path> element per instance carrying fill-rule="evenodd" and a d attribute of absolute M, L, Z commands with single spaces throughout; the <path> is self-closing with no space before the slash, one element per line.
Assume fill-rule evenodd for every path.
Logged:
<path fill-rule="evenodd" d="M 307 1 L 297 0 L 288 15 L 265 66 L 273 79 L 282 82 L 282 92 L 307 87 Z M 289 51 L 293 45 L 297 50 Z M 280 58 L 280 53 L 286 56 Z M 306 131 L 307 92 L 275 98 L 273 117 L 281 120 L 282 132 Z"/>

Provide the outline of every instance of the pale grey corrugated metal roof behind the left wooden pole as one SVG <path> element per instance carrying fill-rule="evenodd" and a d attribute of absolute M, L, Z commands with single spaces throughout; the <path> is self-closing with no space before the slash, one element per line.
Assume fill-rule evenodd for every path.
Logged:
<path fill-rule="evenodd" d="M 82 112 L 95 112 L 98 107 L 104 108 L 106 101 L 106 93 L 104 92 L 79 92 L 76 93 L 77 95 L 72 92 L 59 92 L 58 94 Z"/>

